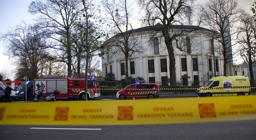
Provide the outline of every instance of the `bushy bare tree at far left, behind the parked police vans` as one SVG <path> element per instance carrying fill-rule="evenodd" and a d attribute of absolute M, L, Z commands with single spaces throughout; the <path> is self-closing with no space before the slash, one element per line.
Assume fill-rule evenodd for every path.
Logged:
<path fill-rule="evenodd" d="M 7 49 L 4 54 L 14 58 L 16 60 L 14 64 L 26 69 L 19 73 L 38 78 L 38 68 L 46 62 L 44 58 L 48 58 L 44 34 L 34 26 L 23 22 L 6 34 L 2 34 L 1 38 L 6 40 Z"/>

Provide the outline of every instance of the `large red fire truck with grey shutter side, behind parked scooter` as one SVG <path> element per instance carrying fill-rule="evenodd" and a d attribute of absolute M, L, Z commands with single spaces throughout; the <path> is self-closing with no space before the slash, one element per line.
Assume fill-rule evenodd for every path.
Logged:
<path fill-rule="evenodd" d="M 84 100 L 84 78 L 67 78 L 64 76 L 41 76 L 42 78 L 34 79 L 34 95 L 38 90 L 42 90 L 42 98 L 49 95 L 54 90 L 60 90 L 60 94 L 56 94 L 57 99 L 76 98 Z M 87 98 L 100 96 L 100 86 L 98 80 L 88 78 Z"/>

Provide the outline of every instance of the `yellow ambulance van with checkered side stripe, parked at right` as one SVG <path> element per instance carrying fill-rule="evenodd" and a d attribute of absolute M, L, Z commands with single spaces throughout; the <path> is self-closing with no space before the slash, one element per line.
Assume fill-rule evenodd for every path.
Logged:
<path fill-rule="evenodd" d="M 212 77 L 204 86 L 196 90 L 198 96 L 238 96 L 250 95 L 248 76 Z"/>

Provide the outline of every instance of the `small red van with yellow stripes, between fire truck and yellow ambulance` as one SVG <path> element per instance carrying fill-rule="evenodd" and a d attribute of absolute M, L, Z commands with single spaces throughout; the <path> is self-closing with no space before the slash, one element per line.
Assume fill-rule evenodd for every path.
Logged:
<path fill-rule="evenodd" d="M 116 98 L 155 98 L 159 97 L 159 86 L 158 84 L 130 84 L 123 90 L 116 93 Z"/>

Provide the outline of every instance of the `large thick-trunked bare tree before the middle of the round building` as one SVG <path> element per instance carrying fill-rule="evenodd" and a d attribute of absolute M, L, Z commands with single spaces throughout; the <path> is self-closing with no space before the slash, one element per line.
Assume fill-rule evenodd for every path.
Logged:
<path fill-rule="evenodd" d="M 174 47 L 179 47 L 179 36 L 186 36 L 193 30 L 174 30 L 174 24 L 192 23 L 193 0 L 138 0 L 140 7 L 145 12 L 143 21 L 152 27 L 154 31 L 161 32 L 166 44 L 170 62 L 170 84 L 176 84 L 176 68 Z M 190 16 L 190 18 L 188 18 Z M 159 24 L 161 23 L 161 24 Z M 200 23 L 200 22 L 198 22 Z"/>

